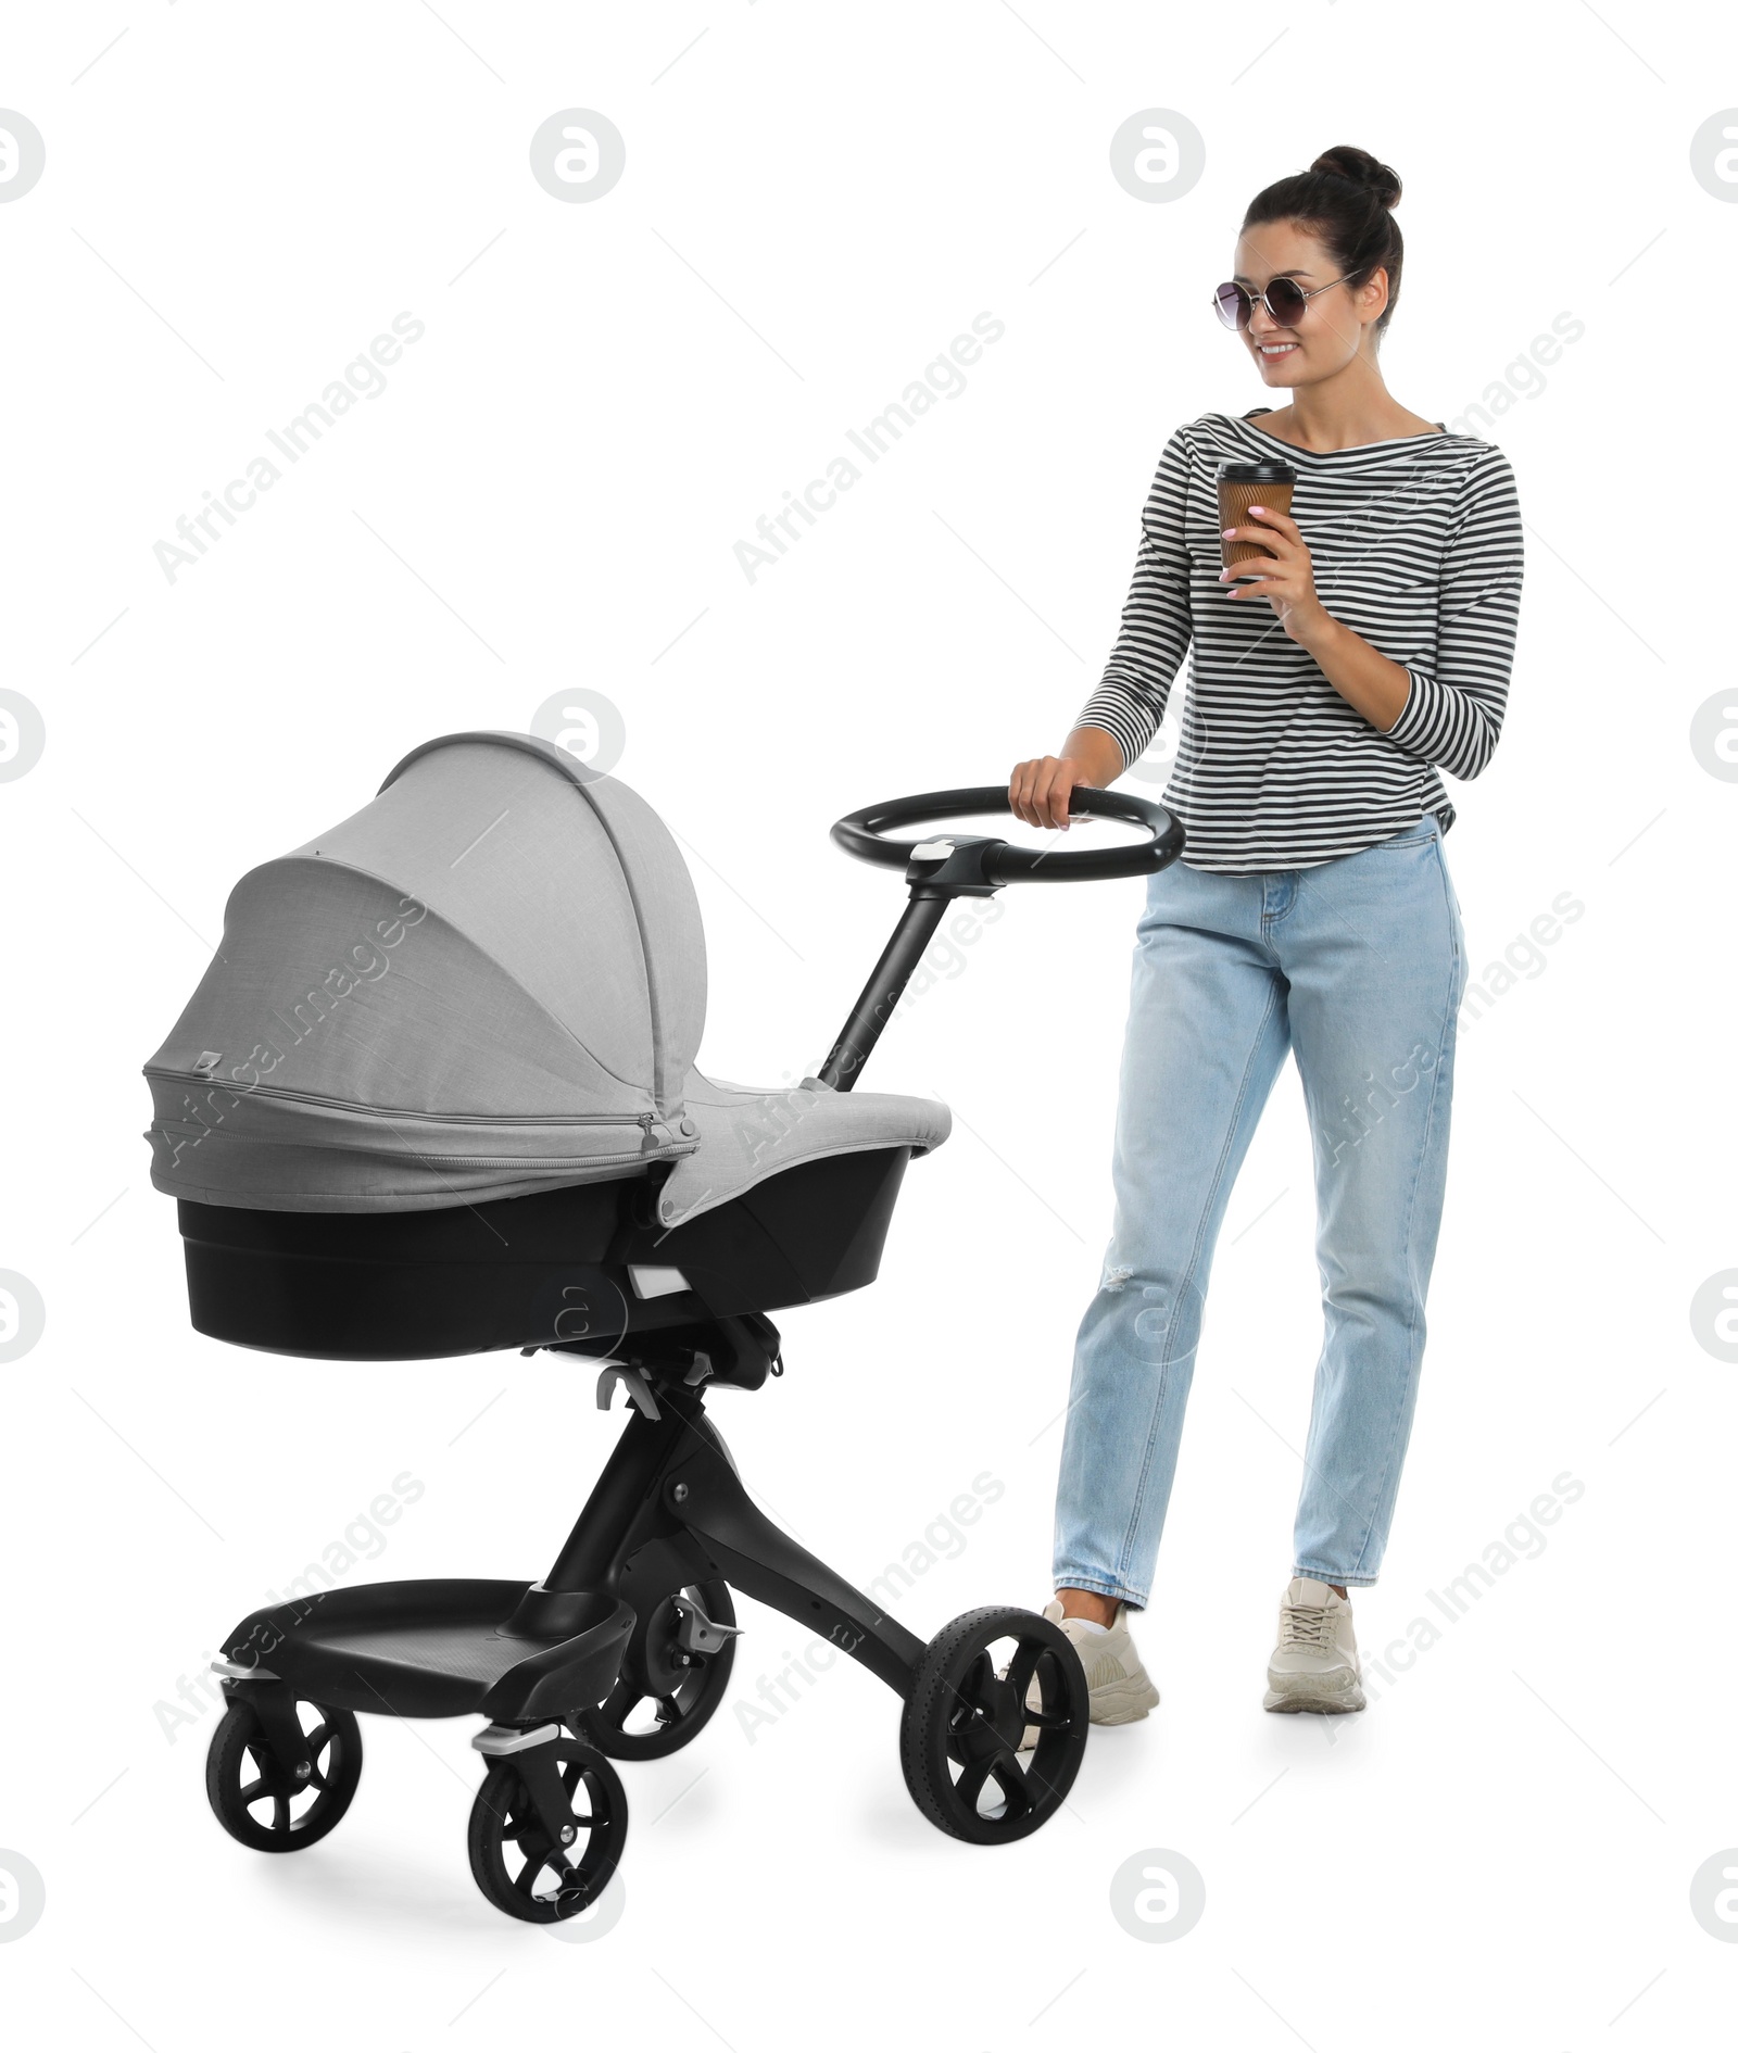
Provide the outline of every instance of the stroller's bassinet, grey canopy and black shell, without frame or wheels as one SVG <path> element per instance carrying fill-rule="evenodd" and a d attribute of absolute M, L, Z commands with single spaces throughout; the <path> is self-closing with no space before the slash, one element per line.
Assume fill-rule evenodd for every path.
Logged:
<path fill-rule="evenodd" d="M 874 1279 L 921 1098 L 714 1084 L 681 854 L 626 784 L 449 735 L 248 873 L 162 1049 L 193 1322 L 279 1353 L 609 1353 Z"/>

